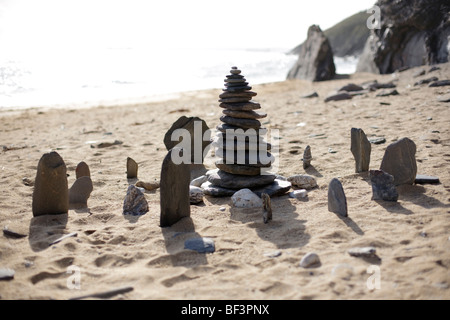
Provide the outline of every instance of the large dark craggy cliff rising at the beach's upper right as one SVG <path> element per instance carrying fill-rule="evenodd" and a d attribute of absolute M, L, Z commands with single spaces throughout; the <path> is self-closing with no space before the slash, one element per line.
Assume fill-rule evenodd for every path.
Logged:
<path fill-rule="evenodd" d="M 381 28 L 373 29 L 357 72 L 391 73 L 449 61 L 448 0 L 379 0 Z"/>

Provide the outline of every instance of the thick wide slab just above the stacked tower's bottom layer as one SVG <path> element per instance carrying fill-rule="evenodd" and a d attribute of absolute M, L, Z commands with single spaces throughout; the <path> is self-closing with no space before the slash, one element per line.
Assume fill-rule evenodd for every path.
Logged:
<path fill-rule="evenodd" d="M 245 189 L 262 187 L 273 183 L 275 175 L 259 175 L 259 176 L 245 176 L 235 175 L 222 170 L 217 173 L 211 174 L 208 177 L 208 181 L 213 185 L 228 188 L 228 189 Z"/>

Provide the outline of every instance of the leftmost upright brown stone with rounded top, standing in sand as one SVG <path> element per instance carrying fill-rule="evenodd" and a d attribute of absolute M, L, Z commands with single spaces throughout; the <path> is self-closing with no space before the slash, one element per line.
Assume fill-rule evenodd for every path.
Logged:
<path fill-rule="evenodd" d="M 33 216 L 63 214 L 69 211 L 67 169 L 61 156 L 53 151 L 39 160 L 33 191 Z"/>

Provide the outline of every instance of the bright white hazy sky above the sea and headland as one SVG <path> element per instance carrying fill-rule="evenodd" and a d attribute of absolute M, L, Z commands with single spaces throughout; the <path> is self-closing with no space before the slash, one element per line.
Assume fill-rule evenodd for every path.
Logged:
<path fill-rule="evenodd" d="M 3 48 L 292 48 L 374 0 L 0 0 Z M 368 14 L 369 16 L 369 14 Z"/>

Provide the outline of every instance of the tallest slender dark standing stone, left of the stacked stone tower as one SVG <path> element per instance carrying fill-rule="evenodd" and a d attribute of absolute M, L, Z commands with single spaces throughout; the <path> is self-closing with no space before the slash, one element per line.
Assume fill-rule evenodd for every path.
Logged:
<path fill-rule="evenodd" d="M 185 163 L 176 164 L 173 161 L 173 154 L 180 152 L 183 151 L 178 147 L 171 149 L 162 163 L 159 187 L 161 227 L 169 227 L 180 219 L 191 215 L 189 198 L 191 173 L 189 165 Z"/>

